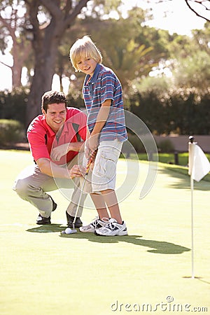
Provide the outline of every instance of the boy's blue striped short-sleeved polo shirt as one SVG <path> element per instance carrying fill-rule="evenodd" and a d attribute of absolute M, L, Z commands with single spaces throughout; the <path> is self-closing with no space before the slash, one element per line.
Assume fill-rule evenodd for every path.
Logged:
<path fill-rule="evenodd" d="M 87 109 L 87 126 L 90 133 L 94 128 L 102 103 L 106 99 L 111 99 L 109 117 L 102 128 L 99 141 L 127 140 L 122 86 L 111 69 L 102 64 L 97 64 L 92 78 L 89 74 L 85 76 L 83 97 Z"/>

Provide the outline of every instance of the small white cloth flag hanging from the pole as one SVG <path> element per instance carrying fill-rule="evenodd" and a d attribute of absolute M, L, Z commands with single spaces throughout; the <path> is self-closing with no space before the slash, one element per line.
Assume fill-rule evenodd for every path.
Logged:
<path fill-rule="evenodd" d="M 195 181 L 200 181 L 210 172 L 210 162 L 200 146 L 189 142 L 189 170 L 188 174 Z"/>

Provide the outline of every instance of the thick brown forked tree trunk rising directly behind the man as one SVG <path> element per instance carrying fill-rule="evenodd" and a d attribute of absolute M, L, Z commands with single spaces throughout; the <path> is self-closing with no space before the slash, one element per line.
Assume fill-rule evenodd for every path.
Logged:
<path fill-rule="evenodd" d="M 89 0 L 25 0 L 34 50 L 34 78 L 27 104 L 27 124 L 40 113 L 41 95 L 50 90 L 62 36 Z M 42 20 L 41 20 L 42 19 Z"/>

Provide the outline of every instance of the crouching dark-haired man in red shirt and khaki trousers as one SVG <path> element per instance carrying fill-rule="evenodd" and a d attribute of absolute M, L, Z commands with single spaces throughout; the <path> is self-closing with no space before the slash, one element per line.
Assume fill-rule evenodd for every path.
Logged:
<path fill-rule="evenodd" d="M 67 225 L 72 228 L 80 195 L 80 178 L 84 172 L 83 167 L 78 165 L 78 152 L 85 141 L 87 118 L 82 111 L 67 107 L 62 92 L 45 92 L 41 110 L 43 114 L 34 118 L 27 130 L 35 163 L 20 173 L 13 190 L 38 209 L 37 224 L 50 224 L 51 212 L 55 211 L 57 204 L 46 192 L 73 188 L 71 202 L 66 209 Z M 80 136 L 80 141 L 77 136 Z M 82 199 L 81 204 L 85 195 Z M 80 207 L 76 228 L 83 225 L 80 221 L 82 210 L 83 207 Z"/>

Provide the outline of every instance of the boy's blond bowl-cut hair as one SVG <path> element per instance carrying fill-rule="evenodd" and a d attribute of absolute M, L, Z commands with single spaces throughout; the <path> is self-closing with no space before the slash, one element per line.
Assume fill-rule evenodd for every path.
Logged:
<path fill-rule="evenodd" d="M 91 59 L 94 59 L 94 61 L 98 64 L 102 63 L 101 52 L 87 35 L 76 40 L 76 42 L 71 46 L 69 56 L 71 59 L 71 64 L 73 65 L 73 68 L 76 72 L 80 71 L 78 69 L 78 62 L 80 62 L 80 59 L 82 57 L 90 57 Z"/>

